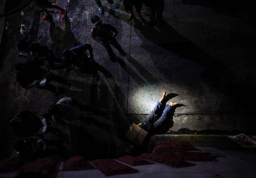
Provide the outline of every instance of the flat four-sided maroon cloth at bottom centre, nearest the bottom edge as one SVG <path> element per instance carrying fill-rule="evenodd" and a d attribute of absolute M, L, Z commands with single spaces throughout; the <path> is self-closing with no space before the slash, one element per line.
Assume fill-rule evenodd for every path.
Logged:
<path fill-rule="evenodd" d="M 105 175 L 128 174 L 138 172 L 137 169 L 126 166 L 116 160 L 100 159 L 93 160 L 92 163 Z"/>

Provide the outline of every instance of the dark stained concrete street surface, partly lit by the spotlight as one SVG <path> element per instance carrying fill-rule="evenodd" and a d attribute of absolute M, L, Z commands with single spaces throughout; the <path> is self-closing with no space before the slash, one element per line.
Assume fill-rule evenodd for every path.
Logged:
<path fill-rule="evenodd" d="M 255 18 L 248 11 L 231 11 L 223 4 L 210 6 L 182 0 L 165 1 L 165 26 L 148 26 L 149 13 L 145 6 L 143 24 L 134 18 L 128 22 L 122 3 L 113 9 L 102 1 L 103 22 L 111 23 L 119 32 L 116 39 L 124 49 L 123 57 L 113 48 L 116 61 L 108 59 L 103 46 L 91 38 L 90 17 L 98 15 L 92 1 L 51 1 L 67 9 L 67 17 L 60 19 L 60 11 L 51 9 L 52 20 L 42 20 L 42 11 L 34 3 L 8 15 L 8 29 L 1 43 L 1 158 L 15 155 L 13 145 L 21 139 L 12 134 L 10 118 L 21 110 L 45 113 L 62 97 L 73 97 L 95 108 L 99 113 L 82 112 L 81 119 L 67 125 L 53 123 L 63 132 L 67 158 L 81 154 L 88 160 L 117 158 L 124 155 L 128 140 L 124 134 L 132 123 L 140 123 L 166 90 L 173 102 L 186 106 L 173 113 L 170 131 L 227 130 L 255 134 L 253 100 L 255 95 Z M 223 11 L 224 9 L 224 11 Z M 136 13 L 135 13 L 136 14 Z M 56 55 L 80 43 L 91 43 L 94 59 L 112 74 L 100 80 L 79 71 L 54 73 L 63 76 L 71 87 L 60 96 L 40 89 L 23 89 L 16 82 L 14 65 L 25 62 L 17 42 L 23 39 L 20 24 L 30 31 L 26 40 L 36 39 L 49 45 Z M 134 37 L 140 36 L 138 40 Z M 45 138 L 57 139 L 46 134 Z M 90 153 L 90 154 L 88 154 Z M 66 158 L 63 158 L 66 159 Z"/>

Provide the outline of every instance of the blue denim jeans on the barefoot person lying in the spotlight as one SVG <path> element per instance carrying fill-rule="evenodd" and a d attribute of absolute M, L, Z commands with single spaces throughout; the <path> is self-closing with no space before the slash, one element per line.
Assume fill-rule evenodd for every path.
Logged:
<path fill-rule="evenodd" d="M 172 106 L 157 102 L 154 109 L 148 114 L 145 120 L 140 125 L 140 128 L 149 132 L 164 125 L 164 121 L 169 119 L 172 112 Z"/>

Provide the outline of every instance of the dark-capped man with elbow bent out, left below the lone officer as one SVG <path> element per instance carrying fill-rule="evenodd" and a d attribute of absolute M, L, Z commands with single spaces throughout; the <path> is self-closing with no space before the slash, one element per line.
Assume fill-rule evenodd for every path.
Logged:
<path fill-rule="evenodd" d="M 86 50 L 90 53 L 89 57 L 84 53 Z M 85 43 L 69 50 L 65 50 L 63 52 L 62 60 L 72 69 L 79 69 L 82 73 L 93 74 L 96 80 L 99 80 L 97 71 L 111 77 L 111 73 L 106 68 L 94 61 L 91 44 Z"/>

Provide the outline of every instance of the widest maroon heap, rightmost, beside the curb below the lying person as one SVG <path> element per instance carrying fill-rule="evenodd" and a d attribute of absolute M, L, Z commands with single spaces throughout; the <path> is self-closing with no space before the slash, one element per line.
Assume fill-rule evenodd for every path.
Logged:
<path fill-rule="evenodd" d="M 141 154 L 140 157 L 172 167 L 188 167 L 195 165 L 189 161 L 215 161 L 209 153 L 189 152 L 200 151 L 186 142 L 171 141 L 158 142 L 153 152 Z"/>

